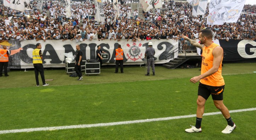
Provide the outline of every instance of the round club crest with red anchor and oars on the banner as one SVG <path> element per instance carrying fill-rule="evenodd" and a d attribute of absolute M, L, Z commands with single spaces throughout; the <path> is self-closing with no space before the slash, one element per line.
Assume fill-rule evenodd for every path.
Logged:
<path fill-rule="evenodd" d="M 127 53 L 126 56 L 128 57 L 128 59 L 131 59 L 132 61 L 136 61 L 138 59 L 142 59 L 142 53 L 141 53 L 141 43 L 136 46 L 136 43 L 133 42 L 132 46 L 130 46 L 130 44 L 126 44 L 127 47 L 129 47 L 129 54 Z"/>

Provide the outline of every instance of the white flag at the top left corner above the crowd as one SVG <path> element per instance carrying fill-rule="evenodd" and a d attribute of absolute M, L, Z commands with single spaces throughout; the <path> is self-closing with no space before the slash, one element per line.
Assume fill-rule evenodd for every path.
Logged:
<path fill-rule="evenodd" d="M 28 5 L 28 4 L 27 4 Z M 4 0 L 4 6 L 21 12 L 25 11 L 25 0 Z"/>

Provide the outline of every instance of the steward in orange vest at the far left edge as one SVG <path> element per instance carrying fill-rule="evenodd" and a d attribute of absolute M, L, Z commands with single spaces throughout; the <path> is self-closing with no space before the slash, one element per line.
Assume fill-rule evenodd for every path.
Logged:
<path fill-rule="evenodd" d="M 0 50 L 0 77 L 2 77 L 2 71 L 4 68 L 5 76 L 9 76 L 7 74 L 7 67 L 9 62 L 9 52 L 6 50 L 6 46 L 2 46 L 3 49 Z"/>

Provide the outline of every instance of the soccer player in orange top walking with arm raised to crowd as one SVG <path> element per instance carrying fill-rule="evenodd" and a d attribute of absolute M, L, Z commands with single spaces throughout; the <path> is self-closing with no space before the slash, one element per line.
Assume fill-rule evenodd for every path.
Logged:
<path fill-rule="evenodd" d="M 231 133 L 235 128 L 227 107 L 223 104 L 224 79 L 221 75 L 223 49 L 221 46 L 212 42 L 212 32 L 204 29 L 199 33 L 200 43 L 184 36 L 192 45 L 203 49 L 201 75 L 190 79 L 190 82 L 199 82 L 198 98 L 197 98 L 197 119 L 195 126 L 186 129 L 188 133 L 201 132 L 201 121 L 204 114 L 204 105 L 208 97 L 211 95 L 214 105 L 219 109 L 226 118 L 228 126 L 222 131 L 224 134 Z"/>

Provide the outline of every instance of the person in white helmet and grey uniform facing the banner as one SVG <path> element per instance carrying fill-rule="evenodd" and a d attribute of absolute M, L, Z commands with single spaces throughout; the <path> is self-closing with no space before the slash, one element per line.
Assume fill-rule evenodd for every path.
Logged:
<path fill-rule="evenodd" d="M 146 76 L 149 76 L 149 72 L 150 72 L 150 66 L 152 66 L 152 71 L 153 71 L 153 76 L 155 75 L 155 49 L 152 47 L 153 43 L 152 42 L 148 42 L 148 47 L 145 51 L 145 59 L 147 58 L 147 65 L 148 65 L 148 70 L 147 70 L 147 74 L 145 74 Z"/>

